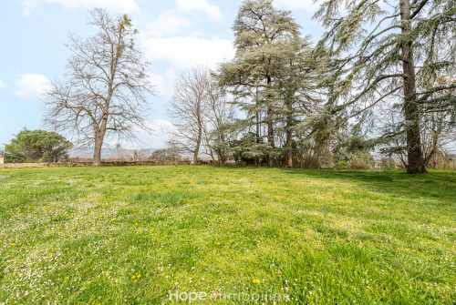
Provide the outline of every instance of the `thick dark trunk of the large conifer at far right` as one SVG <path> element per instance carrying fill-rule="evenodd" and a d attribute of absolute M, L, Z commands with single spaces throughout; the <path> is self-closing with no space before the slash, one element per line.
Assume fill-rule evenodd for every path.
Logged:
<path fill-rule="evenodd" d="M 402 33 L 411 31 L 409 0 L 400 0 Z M 404 71 L 404 112 L 407 123 L 408 174 L 427 173 L 421 151 L 420 108 L 416 103 L 416 75 L 411 41 L 402 44 L 402 68 Z"/>

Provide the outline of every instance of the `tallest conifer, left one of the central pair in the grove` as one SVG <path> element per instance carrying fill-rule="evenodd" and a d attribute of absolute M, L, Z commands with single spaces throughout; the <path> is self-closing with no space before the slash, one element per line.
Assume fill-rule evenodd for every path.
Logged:
<path fill-rule="evenodd" d="M 224 86 L 230 86 L 247 113 L 244 123 L 254 125 L 256 144 L 267 138 L 268 165 L 275 165 L 275 120 L 280 97 L 276 79 L 289 43 L 299 40 L 299 25 L 288 11 L 268 0 L 246 0 L 234 21 L 236 55 L 221 68 Z M 265 136 L 262 128 L 265 125 Z"/>

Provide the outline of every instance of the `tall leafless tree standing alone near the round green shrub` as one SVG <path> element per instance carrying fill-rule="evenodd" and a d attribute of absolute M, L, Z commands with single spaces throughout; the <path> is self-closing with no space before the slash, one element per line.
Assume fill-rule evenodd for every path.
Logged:
<path fill-rule="evenodd" d="M 93 165 L 100 165 L 108 137 L 133 138 L 135 127 L 148 129 L 145 119 L 153 93 L 149 63 L 134 45 L 138 33 L 127 15 L 113 17 L 103 9 L 90 12 L 95 36 L 69 34 L 72 56 L 65 81 L 52 84 L 45 98 L 50 127 L 78 137 L 79 145 L 94 147 Z"/>

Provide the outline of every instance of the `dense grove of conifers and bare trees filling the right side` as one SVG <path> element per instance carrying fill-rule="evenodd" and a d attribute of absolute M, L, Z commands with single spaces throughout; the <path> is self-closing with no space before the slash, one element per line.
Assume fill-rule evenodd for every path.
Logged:
<path fill-rule="evenodd" d="M 455 132 L 456 5 L 329 0 L 314 44 L 290 11 L 246 0 L 235 56 L 181 74 L 171 146 L 268 166 L 321 168 L 369 151 L 425 173 Z M 222 114 L 217 109 L 223 109 Z"/>

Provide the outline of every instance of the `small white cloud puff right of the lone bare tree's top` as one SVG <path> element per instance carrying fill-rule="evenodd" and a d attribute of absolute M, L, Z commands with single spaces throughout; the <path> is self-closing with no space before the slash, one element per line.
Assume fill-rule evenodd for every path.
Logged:
<path fill-rule="evenodd" d="M 182 27 L 191 26 L 192 22 L 178 15 L 176 12 L 168 11 L 161 14 L 156 21 L 150 23 L 148 33 L 154 37 L 161 37 L 163 35 L 172 35 L 179 33 Z"/>

